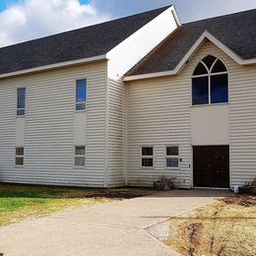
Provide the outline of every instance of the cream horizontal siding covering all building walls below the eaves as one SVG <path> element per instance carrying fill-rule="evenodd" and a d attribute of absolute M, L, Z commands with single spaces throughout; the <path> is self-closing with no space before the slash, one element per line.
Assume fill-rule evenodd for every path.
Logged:
<path fill-rule="evenodd" d="M 176 186 L 191 188 L 191 77 L 208 54 L 221 58 L 228 70 L 230 186 L 252 181 L 256 176 L 256 65 L 239 66 L 210 42 L 172 77 L 124 85 L 109 78 L 106 62 L 98 62 L 1 79 L 0 181 L 113 187 L 126 180 L 128 185 L 152 186 L 166 175 L 176 177 Z M 76 137 L 74 124 L 81 127 L 74 109 L 75 85 L 85 78 L 88 98 L 82 121 L 86 129 L 83 134 L 84 129 L 77 128 Z M 25 139 L 16 145 L 16 98 L 21 85 L 27 91 Z M 86 145 L 83 169 L 74 167 L 74 145 Z M 151 171 L 141 166 L 145 145 L 154 147 Z M 166 168 L 167 145 L 179 146 L 179 168 Z M 14 164 L 18 146 L 26 149 L 22 168 Z"/>

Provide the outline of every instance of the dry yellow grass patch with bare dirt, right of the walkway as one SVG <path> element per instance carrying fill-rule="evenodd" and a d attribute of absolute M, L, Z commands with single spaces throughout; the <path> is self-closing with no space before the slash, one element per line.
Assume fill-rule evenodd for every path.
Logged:
<path fill-rule="evenodd" d="M 166 244 L 182 255 L 256 255 L 256 197 L 234 195 L 170 219 Z"/>

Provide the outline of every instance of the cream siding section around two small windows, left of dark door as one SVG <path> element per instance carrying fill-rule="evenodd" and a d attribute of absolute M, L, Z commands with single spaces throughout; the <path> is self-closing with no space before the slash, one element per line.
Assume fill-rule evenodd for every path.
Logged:
<path fill-rule="evenodd" d="M 153 186 L 162 175 L 191 187 L 190 77 L 186 72 L 128 84 L 127 179 L 132 186 Z M 154 171 L 141 167 L 141 146 L 154 146 Z M 166 145 L 179 145 L 180 169 L 165 167 Z"/>

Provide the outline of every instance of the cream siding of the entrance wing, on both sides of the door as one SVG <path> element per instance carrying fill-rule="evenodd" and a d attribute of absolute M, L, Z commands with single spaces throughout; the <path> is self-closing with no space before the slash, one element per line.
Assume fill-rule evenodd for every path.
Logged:
<path fill-rule="evenodd" d="M 218 47 L 206 42 L 180 75 L 128 84 L 130 185 L 152 185 L 164 174 L 176 176 L 179 187 L 192 186 L 191 74 L 208 54 L 220 57 L 229 71 L 230 186 L 242 185 L 256 176 L 256 66 L 239 66 Z M 164 168 L 164 146 L 168 144 L 180 145 L 183 161 L 177 171 Z M 154 169 L 140 167 L 144 145 L 154 146 Z"/>

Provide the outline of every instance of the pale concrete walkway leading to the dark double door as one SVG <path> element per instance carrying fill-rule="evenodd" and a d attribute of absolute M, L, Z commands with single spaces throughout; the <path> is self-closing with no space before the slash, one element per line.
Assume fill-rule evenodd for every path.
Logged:
<path fill-rule="evenodd" d="M 12 224 L 0 228 L 0 253 L 176 255 L 146 228 L 226 194 L 214 190 L 174 190 Z"/>

